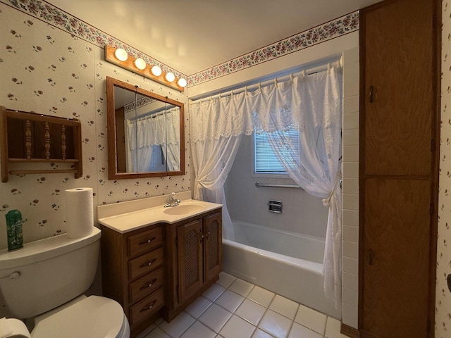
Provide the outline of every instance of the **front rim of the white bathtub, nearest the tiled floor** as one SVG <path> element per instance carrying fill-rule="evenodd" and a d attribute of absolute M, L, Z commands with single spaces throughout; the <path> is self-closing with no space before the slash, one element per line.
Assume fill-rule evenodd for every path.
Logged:
<path fill-rule="evenodd" d="M 294 268 L 301 267 L 301 268 L 308 270 L 309 272 L 314 273 L 316 275 L 321 275 L 321 276 L 324 275 L 323 264 L 321 264 L 321 263 L 315 263 L 315 262 L 311 262 L 311 261 L 306 261 L 301 258 L 285 256 L 280 253 L 275 253 L 275 252 L 267 251 L 264 249 L 255 248 L 254 246 L 249 246 L 247 244 L 234 242 L 234 241 L 231 241 L 230 239 L 223 238 L 223 243 L 224 242 L 230 246 L 234 246 L 235 248 L 240 248 L 240 249 L 243 249 L 246 251 L 251 251 L 253 253 L 257 253 L 259 256 L 264 256 L 267 259 L 271 259 L 272 261 L 283 261 L 287 265 L 290 265 Z"/>

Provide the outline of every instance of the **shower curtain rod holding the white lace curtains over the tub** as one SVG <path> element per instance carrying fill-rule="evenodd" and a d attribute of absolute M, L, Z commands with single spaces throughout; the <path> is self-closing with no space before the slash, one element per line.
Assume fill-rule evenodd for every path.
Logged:
<path fill-rule="evenodd" d="M 292 80 L 292 77 L 295 75 L 304 75 L 305 76 L 305 75 L 316 74 L 316 73 L 322 72 L 324 70 L 330 70 L 331 65 L 335 65 L 336 67 L 341 68 L 342 67 L 342 56 L 340 56 L 340 58 L 338 58 L 337 61 L 328 62 L 326 64 L 319 65 L 319 66 L 316 66 L 316 67 L 310 68 L 310 69 L 299 70 L 298 72 L 291 73 L 289 75 L 283 75 L 281 77 L 274 77 L 272 80 L 266 80 L 266 81 L 258 82 L 255 84 L 249 84 L 248 86 L 241 87 L 241 88 L 234 88 L 234 89 L 229 90 L 228 92 L 205 96 L 201 99 L 197 99 L 195 101 L 190 101 L 190 104 L 197 104 L 197 103 L 202 104 L 202 102 L 209 101 L 211 99 L 221 99 L 222 97 L 233 96 L 233 94 L 240 94 L 242 92 L 253 92 L 256 89 L 260 89 L 261 87 L 266 87 L 269 84 L 274 84 L 274 83 L 277 84 L 277 82 L 283 82 L 283 81 L 286 81 L 289 79 Z"/>

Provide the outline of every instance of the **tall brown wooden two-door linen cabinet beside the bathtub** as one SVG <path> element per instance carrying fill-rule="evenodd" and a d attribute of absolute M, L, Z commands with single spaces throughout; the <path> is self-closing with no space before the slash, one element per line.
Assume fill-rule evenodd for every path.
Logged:
<path fill-rule="evenodd" d="M 360 337 L 433 337 L 440 93 L 436 0 L 360 21 Z"/>

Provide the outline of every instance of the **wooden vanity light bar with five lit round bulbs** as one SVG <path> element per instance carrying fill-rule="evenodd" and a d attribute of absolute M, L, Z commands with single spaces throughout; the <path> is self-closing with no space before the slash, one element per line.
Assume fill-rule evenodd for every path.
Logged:
<path fill-rule="evenodd" d="M 153 67 L 147 66 L 146 61 L 142 58 L 135 58 L 127 54 L 127 51 L 122 48 L 116 49 L 113 46 L 105 46 L 105 61 L 118 65 L 133 73 L 148 77 L 156 82 L 164 84 L 165 86 L 177 89 L 180 92 L 185 91 L 187 81 L 183 78 L 177 78 L 171 72 L 163 72 L 159 65 Z"/>

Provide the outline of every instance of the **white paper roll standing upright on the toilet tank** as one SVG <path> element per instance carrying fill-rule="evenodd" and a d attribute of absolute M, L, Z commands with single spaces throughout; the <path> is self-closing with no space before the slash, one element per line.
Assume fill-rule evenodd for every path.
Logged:
<path fill-rule="evenodd" d="M 66 228 L 68 238 L 85 237 L 94 230 L 92 188 L 66 190 Z"/>

